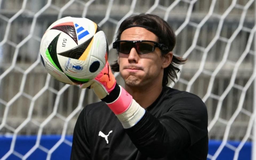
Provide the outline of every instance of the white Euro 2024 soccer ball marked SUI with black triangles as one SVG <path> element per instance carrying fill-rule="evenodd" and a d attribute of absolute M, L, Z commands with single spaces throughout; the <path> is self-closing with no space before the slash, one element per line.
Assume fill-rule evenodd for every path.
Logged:
<path fill-rule="evenodd" d="M 40 44 L 42 63 L 58 81 L 77 85 L 95 78 L 107 62 L 104 32 L 86 18 L 64 17 L 46 30 Z"/>

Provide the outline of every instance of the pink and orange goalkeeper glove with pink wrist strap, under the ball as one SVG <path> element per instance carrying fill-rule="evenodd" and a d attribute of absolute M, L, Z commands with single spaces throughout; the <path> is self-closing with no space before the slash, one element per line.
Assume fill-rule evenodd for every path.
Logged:
<path fill-rule="evenodd" d="M 80 88 L 88 87 L 93 89 L 97 97 L 105 101 L 115 114 L 125 112 L 132 103 L 132 96 L 123 87 L 117 85 L 108 61 L 93 80 L 80 85 Z"/>

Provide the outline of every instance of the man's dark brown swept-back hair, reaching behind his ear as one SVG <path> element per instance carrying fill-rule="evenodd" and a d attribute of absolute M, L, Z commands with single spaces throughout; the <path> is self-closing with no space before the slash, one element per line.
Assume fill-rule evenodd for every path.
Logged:
<path fill-rule="evenodd" d="M 163 43 L 166 45 L 169 49 L 169 51 L 172 51 L 175 43 L 176 43 L 176 38 L 175 38 L 175 33 L 172 30 L 172 28 L 168 25 L 164 19 L 160 18 L 157 15 L 154 14 L 139 14 L 139 15 L 132 15 L 128 18 L 126 18 L 120 25 L 118 31 L 117 31 L 117 37 L 116 41 L 120 40 L 121 34 L 123 31 L 129 26 L 133 25 L 140 25 L 144 26 L 147 30 L 151 31 L 154 33 L 157 37 L 159 42 L 158 43 Z M 162 55 L 164 53 L 162 52 Z M 179 72 L 180 69 L 176 67 L 177 65 L 184 64 L 187 59 L 183 59 L 182 57 L 177 57 L 174 56 L 172 57 L 172 62 L 171 64 L 164 68 L 164 75 L 163 75 L 163 81 L 162 81 L 162 86 L 166 86 L 168 83 L 168 77 L 173 81 L 175 78 L 177 78 L 176 71 Z M 115 61 L 112 65 L 111 68 L 114 72 L 119 72 L 119 64 L 117 61 Z"/>

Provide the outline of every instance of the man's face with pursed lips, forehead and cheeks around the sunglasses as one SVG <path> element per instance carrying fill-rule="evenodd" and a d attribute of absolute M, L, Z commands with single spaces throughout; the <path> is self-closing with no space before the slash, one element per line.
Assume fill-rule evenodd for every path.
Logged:
<path fill-rule="evenodd" d="M 123 31 L 120 40 L 157 42 L 158 38 L 145 28 L 131 27 Z M 152 85 L 152 83 L 162 84 L 163 61 L 164 58 L 158 47 L 153 52 L 146 54 L 138 54 L 135 48 L 132 48 L 129 54 L 119 53 L 120 75 L 125 84 L 130 87 Z"/>

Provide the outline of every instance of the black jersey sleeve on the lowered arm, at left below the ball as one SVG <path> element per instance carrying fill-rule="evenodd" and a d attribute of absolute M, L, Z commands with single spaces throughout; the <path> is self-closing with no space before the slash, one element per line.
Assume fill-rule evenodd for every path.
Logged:
<path fill-rule="evenodd" d="M 86 107 L 85 107 L 86 108 Z M 89 139 L 87 135 L 87 125 L 86 125 L 86 114 L 85 108 L 81 111 L 76 125 L 74 127 L 73 133 L 73 143 L 71 150 L 71 160 L 77 159 L 88 159 L 90 160 L 90 148 L 89 148 Z"/>

